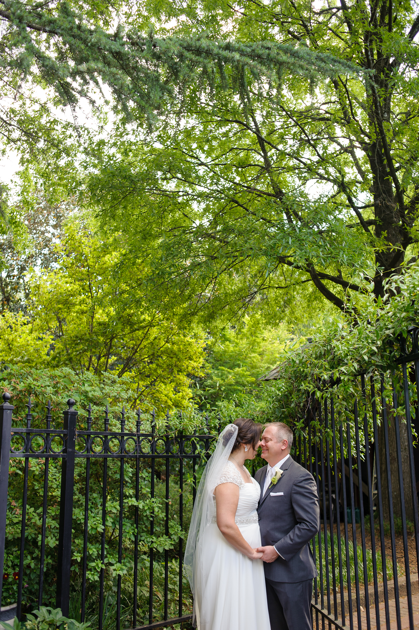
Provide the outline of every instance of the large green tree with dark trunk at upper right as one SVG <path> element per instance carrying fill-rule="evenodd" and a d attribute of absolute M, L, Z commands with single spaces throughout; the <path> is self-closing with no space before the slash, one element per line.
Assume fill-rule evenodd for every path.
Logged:
<path fill-rule="evenodd" d="M 362 278 L 383 298 L 386 278 L 406 255 L 416 260 L 414 4 L 149 6 L 161 21 L 179 20 L 183 36 L 222 25 L 226 38 L 296 42 L 367 73 L 313 85 L 283 72 L 263 86 L 249 73 L 242 98 L 215 79 L 181 125 L 149 142 L 121 128 L 91 177 L 91 202 L 135 234 L 133 256 L 150 244 L 160 257 L 149 275 L 157 292 L 176 284 L 186 304 L 232 318 L 269 301 L 289 308 L 301 285 L 313 295 L 305 283 L 341 310 Z"/>

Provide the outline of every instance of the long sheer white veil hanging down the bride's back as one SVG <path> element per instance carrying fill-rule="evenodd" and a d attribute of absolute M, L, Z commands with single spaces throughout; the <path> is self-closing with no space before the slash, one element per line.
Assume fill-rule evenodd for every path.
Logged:
<path fill-rule="evenodd" d="M 206 464 L 201 481 L 199 481 L 198 491 L 196 492 L 184 556 L 184 570 L 194 597 L 194 621 L 196 616 L 195 602 L 197 596 L 198 600 L 200 599 L 201 593 L 199 591 L 201 583 L 203 583 L 201 575 L 203 566 L 200 561 L 201 541 L 206 528 L 216 514 L 213 493 L 232 452 L 237 433 L 238 427 L 236 425 L 227 425 L 220 433 L 215 451 L 208 460 L 208 464 Z"/>

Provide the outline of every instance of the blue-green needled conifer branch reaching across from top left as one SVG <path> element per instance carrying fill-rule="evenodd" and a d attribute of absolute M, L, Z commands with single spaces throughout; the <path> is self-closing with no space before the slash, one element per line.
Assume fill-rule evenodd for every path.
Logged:
<path fill-rule="evenodd" d="M 138 30 L 140 13 L 119 1 L 49 1 L 42 6 L 31 0 L 4 1 L 0 93 L 7 106 L 0 127 L 6 142 L 25 159 L 36 161 L 38 152 L 44 175 L 46 157 L 48 166 L 55 163 L 53 175 L 60 176 L 57 167 L 68 166 L 75 147 L 89 148 L 86 128 L 75 117 L 72 122 L 60 118 L 54 106 L 69 106 L 74 113 L 85 98 L 100 116 L 99 105 L 106 102 L 103 88 L 123 117 L 140 112 L 150 123 L 157 113 L 174 111 L 173 104 L 179 108 L 181 94 L 194 99 L 197 84 L 198 91 L 206 91 L 215 74 L 227 81 L 226 69 L 243 89 L 245 67 L 261 77 L 275 76 L 278 67 L 310 77 L 335 74 L 333 63 L 352 67 L 331 55 L 274 42 L 215 42 L 203 33 L 157 38 L 149 23 Z"/>

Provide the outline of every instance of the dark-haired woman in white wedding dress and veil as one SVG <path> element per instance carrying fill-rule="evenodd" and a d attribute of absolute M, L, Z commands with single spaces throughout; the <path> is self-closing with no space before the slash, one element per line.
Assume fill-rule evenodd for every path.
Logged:
<path fill-rule="evenodd" d="M 260 425 L 228 425 L 198 486 L 184 568 L 198 630 L 269 630 L 257 503 L 260 486 L 244 466 L 254 459 Z"/>

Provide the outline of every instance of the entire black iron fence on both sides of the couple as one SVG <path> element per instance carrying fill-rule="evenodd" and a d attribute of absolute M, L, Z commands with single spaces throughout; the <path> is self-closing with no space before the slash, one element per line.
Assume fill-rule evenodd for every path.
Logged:
<path fill-rule="evenodd" d="M 313 399 L 294 457 L 316 479 L 321 527 L 313 627 L 388 630 L 419 624 L 419 329 L 391 371 L 360 374 L 352 394 Z M 0 592 L 21 617 L 37 605 L 113 627 L 167 627 L 191 619 L 182 576 L 184 527 L 210 452 L 193 435 L 155 430 L 154 415 L 126 429 L 125 412 L 13 427 L 0 405 Z M 111 423 L 111 426 L 109 425 Z M 9 490 L 9 492 L 8 492 Z M 4 541 L 4 544 L 3 544 Z M 415 625 L 416 624 L 416 625 Z"/>

